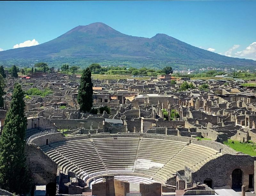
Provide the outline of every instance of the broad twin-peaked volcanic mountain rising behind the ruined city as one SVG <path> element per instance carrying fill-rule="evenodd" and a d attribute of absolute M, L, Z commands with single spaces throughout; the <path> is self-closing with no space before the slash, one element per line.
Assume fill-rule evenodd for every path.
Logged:
<path fill-rule="evenodd" d="M 86 58 L 101 60 L 174 61 L 180 64 L 255 66 L 256 61 L 222 56 L 165 34 L 135 37 L 103 23 L 77 26 L 43 44 L 0 52 L 0 60 Z M 96 60 L 95 60 L 96 58 Z M 189 63 L 188 63 L 189 62 Z"/>

